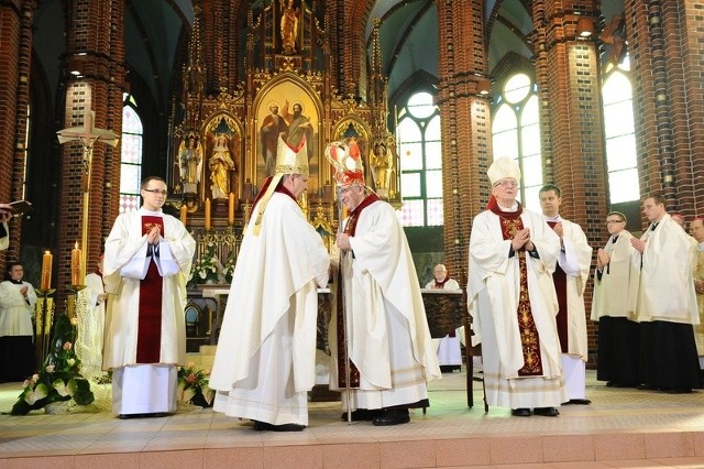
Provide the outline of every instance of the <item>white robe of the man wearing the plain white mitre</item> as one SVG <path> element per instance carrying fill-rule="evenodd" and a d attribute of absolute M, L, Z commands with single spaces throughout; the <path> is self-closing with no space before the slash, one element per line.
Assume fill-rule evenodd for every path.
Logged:
<path fill-rule="evenodd" d="M 510 239 L 502 234 L 501 219 L 486 210 L 474 217 L 470 238 L 468 302 L 473 318 L 472 345 L 482 343 L 484 385 L 490 405 L 509 408 L 556 407 L 566 401 L 561 349 L 556 325 L 558 299 L 552 272 L 560 239 L 542 215 L 524 209 L 539 258 L 526 253 L 528 297 L 540 340 L 542 375 L 519 377 L 524 367 L 518 328 L 520 269 L 518 253 L 509 257 Z"/>

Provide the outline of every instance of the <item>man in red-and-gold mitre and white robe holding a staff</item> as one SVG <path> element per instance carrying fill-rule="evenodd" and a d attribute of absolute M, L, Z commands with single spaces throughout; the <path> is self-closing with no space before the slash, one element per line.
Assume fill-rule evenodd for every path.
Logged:
<path fill-rule="evenodd" d="M 341 257 L 333 255 L 330 388 L 344 390 L 342 407 L 355 410 L 352 419 L 405 424 L 409 408 L 429 405 L 426 382 L 440 377 L 408 241 L 394 208 L 367 192 L 356 142 L 333 142 L 326 156 L 349 210 L 336 241 Z"/>

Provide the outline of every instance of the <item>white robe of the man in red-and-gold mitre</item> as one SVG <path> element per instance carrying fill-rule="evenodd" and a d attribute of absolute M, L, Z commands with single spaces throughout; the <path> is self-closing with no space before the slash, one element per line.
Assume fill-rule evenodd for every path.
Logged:
<path fill-rule="evenodd" d="M 352 390 L 349 405 L 384 408 L 425 400 L 426 382 L 441 373 L 410 248 L 394 208 L 382 200 L 366 206 L 350 244 L 340 269 L 349 355 L 360 371 L 360 389 Z M 337 330 L 332 315 L 332 390 L 340 390 Z M 346 410 L 346 393 L 342 404 Z"/>

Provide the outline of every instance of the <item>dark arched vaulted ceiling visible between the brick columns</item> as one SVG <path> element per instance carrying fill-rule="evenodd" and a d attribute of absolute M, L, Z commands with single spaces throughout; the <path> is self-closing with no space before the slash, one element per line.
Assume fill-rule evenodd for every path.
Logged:
<path fill-rule="evenodd" d="M 130 73 L 138 74 L 160 107 L 168 105 L 174 89 L 176 48 L 183 31 L 193 24 L 191 0 L 124 0 L 125 58 Z M 271 0 L 254 0 L 252 4 Z M 61 56 L 65 36 L 62 0 L 43 0 L 35 17 L 35 53 L 51 84 L 59 83 Z M 438 15 L 433 0 L 377 0 L 365 34 L 372 34 L 374 19 L 380 30 L 384 70 L 389 96 L 417 70 L 438 76 Z M 490 35 L 491 67 L 508 52 L 530 56 L 525 36 L 530 33 L 530 0 L 485 0 Z M 362 19 L 360 19 L 362 21 Z M 54 89 L 56 92 L 56 88 Z"/>

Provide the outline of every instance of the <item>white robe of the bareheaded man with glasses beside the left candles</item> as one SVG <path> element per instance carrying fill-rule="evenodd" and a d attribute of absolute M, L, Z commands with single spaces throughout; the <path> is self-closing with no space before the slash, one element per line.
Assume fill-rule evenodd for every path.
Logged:
<path fill-rule="evenodd" d="M 142 234 L 143 215 L 163 218 L 164 233 L 158 244 L 158 259 L 146 257 L 146 234 Z M 119 375 L 119 380 L 114 380 L 113 374 L 112 384 L 116 414 L 176 410 L 176 366 L 186 360 L 186 281 L 195 251 L 196 241 L 180 220 L 161 210 L 142 208 L 116 219 L 106 241 L 103 261 L 106 292 L 110 295 L 103 369 L 113 370 Z M 162 330 L 160 362 L 144 364 L 136 363 L 141 281 L 129 272 L 138 271 L 148 262 L 156 262 L 164 277 Z"/>

